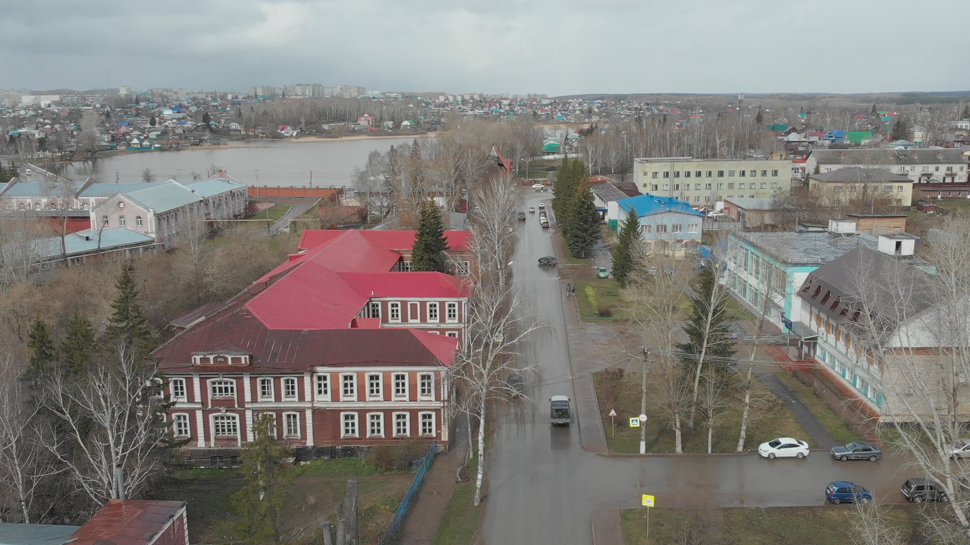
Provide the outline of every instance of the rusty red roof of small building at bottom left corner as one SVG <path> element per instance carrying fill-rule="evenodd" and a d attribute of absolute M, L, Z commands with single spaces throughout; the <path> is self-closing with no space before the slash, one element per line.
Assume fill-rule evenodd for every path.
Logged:
<path fill-rule="evenodd" d="M 184 501 L 109 499 L 71 534 L 72 545 L 146 545 L 185 508 Z"/>

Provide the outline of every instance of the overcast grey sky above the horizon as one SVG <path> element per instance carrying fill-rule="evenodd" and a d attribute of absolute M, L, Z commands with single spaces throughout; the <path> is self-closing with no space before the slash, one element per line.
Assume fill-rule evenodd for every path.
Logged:
<path fill-rule="evenodd" d="M 970 89 L 934 0 L 7 2 L 0 88 L 876 92 Z"/>

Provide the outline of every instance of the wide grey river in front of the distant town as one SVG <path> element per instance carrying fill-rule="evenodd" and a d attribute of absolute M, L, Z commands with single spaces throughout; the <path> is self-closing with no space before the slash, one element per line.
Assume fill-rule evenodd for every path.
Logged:
<path fill-rule="evenodd" d="M 247 185 L 352 185 L 354 169 L 363 167 L 374 149 L 384 152 L 392 145 L 412 141 L 410 138 L 343 142 L 258 141 L 227 143 L 226 147 L 211 149 L 129 152 L 98 159 L 93 169 L 91 163 L 75 163 L 67 176 L 75 179 L 94 176 L 106 183 L 115 179 L 131 182 L 141 181 L 147 168 L 158 181 L 168 178 L 192 181 L 193 172 L 205 179 L 214 165 Z"/>

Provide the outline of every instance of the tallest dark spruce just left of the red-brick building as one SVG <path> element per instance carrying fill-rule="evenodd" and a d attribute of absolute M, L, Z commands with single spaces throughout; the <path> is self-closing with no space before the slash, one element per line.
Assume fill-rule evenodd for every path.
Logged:
<path fill-rule="evenodd" d="M 128 262 L 121 267 L 114 287 L 118 295 L 112 304 L 112 317 L 105 329 L 104 344 L 106 347 L 120 348 L 123 357 L 130 356 L 135 361 L 147 360 L 154 348 L 155 336 L 139 301 L 134 265 Z"/>

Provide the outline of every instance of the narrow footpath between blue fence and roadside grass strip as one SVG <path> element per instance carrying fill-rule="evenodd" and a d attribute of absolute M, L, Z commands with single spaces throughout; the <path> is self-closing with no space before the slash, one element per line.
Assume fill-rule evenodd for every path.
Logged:
<path fill-rule="evenodd" d="M 468 437 L 464 431 L 463 418 L 457 418 L 448 452 L 435 457 L 414 506 L 404 517 L 404 526 L 395 541 L 398 545 L 428 545 L 435 540 L 444 510 L 455 494 L 458 468 L 465 462 Z"/>

